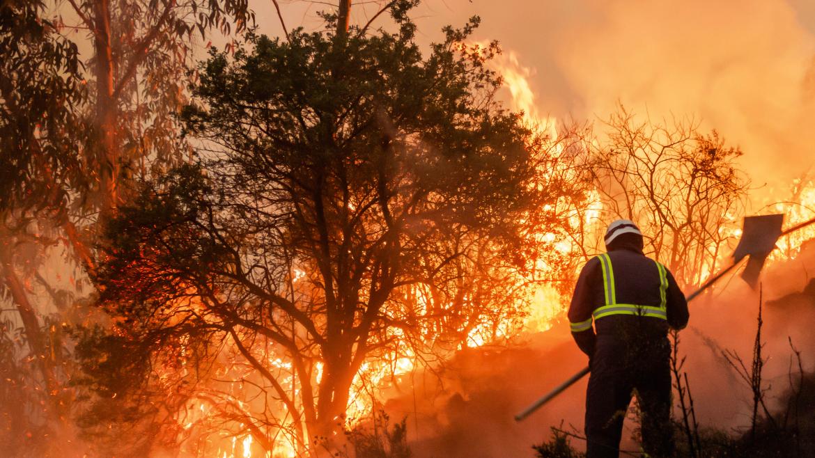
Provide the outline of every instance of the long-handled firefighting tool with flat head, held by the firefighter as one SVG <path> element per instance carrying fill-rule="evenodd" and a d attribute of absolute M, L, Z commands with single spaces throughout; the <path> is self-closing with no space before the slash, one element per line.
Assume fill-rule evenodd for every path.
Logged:
<path fill-rule="evenodd" d="M 815 224 L 815 218 L 800 224 L 796 224 L 795 226 L 784 231 L 781 229 L 783 223 L 783 214 L 745 217 L 744 228 L 742 229 L 742 239 L 738 241 L 736 251 L 733 253 L 733 264 L 716 275 L 713 275 L 696 291 L 690 293 L 686 298 L 687 301 L 693 301 L 700 293 L 707 288 L 710 288 L 716 283 L 716 281 L 720 280 L 721 277 L 727 275 L 729 271 L 734 270 L 736 266 L 742 262 L 742 259 L 748 256 L 749 258 L 747 259 L 747 266 L 745 266 L 744 271 L 742 271 L 742 279 L 744 279 L 747 284 L 750 284 L 752 288 L 755 288 L 761 268 L 764 266 L 764 261 L 767 260 L 769 253 L 776 248 L 775 243 L 778 241 L 778 239 L 782 236 L 798 231 L 799 229 L 803 229 L 811 224 Z M 515 421 L 522 421 L 532 412 L 535 412 L 545 403 L 548 403 L 549 400 L 553 399 L 558 394 L 561 394 L 564 390 L 566 390 L 566 388 L 574 385 L 576 381 L 579 381 L 581 378 L 585 377 L 588 372 L 588 367 L 583 368 L 580 372 L 577 372 L 575 375 L 569 378 L 569 380 L 557 385 L 554 390 L 549 391 L 544 397 L 538 399 L 535 401 L 535 403 L 532 403 L 529 407 L 526 407 L 523 412 L 516 415 Z"/>

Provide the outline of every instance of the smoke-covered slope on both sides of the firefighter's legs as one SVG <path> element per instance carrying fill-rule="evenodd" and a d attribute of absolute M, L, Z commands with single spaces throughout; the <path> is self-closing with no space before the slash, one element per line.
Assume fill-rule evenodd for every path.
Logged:
<path fill-rule="evenodd" d="M 763 390 L 773 417 L 784 421 L 787 430 L 796 421 L 801 437 L 810 437 L 815 425 L 811 416 L 815 279 L 808 278 L 805 267 L 815 269 L 812 244 L 794 260 L 775 262 L 765 272 Z M 750 358 L 758 303 L 758 293 L 734 278 L 732 284 L 691 304 L 689 328 L 681 332 L 680 353 L 687 358 L 685 372 L 695 413 L 713 454 L 747 453 L 751 447 L 751 390 L 723 352 Z M 800 352 L 803 374 L 795 352 Z M 513 416 L 585 363 L 568 325 L 555 323 L 546 332 L 527 336 L 520 346 L 461 351 L 441 372 L 416 374 L 414 390 L 394 395 L 384 408 L 392 416 L 407 418 L 410 445 L 418 456 L 531 456 L 531 444 L 548 439 L 552 427 L 582 436 L 585 380 L 526 421 L 516 423 Z M 774 437 L 769 423 L 760 420 L 760 434 Z M 623 449 L 637 450 L 632 440 L 635 427 L 627 422 Z M 778 427 L 775 431 L 781 434 Z M 783 440 L 773 443 L 780 447 Z M 571 443 L 578 450 L 584 447 L 579 438 Z M 782 445 L 795 451 L 794 443 Z M 800 447 L 811 450 L 813 443 L 804 440 Z"/>

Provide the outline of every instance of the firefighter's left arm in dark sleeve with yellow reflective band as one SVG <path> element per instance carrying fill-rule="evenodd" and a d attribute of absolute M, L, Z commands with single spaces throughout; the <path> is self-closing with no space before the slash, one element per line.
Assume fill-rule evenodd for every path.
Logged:
<path fill-rule="evenodd" d="M 594 355 L 594 345 L 597 336 L 592 326 L 592 311 L 594 308 L 593 285 L 597 284 L 597 275 L 600 273 L 600 261 L 593 258 L 586 263 L 575 285 L 575 294 L 571 297 L 569 306 L 569 326 L 571 336 L 581 351 L 589 358 Z"/>

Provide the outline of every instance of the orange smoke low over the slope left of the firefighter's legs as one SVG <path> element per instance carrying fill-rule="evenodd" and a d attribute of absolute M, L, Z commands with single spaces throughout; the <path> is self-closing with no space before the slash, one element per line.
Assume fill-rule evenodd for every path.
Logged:
<path fill-rule="evenodd" d="M 556 323 L 522 346 L 466 349 L 440 372 L 416 372 L 412 390 L 388 400 L 385 410 L 397 420 L 407 416 L 414 456 L 531 456 L 550 425 L 582 429 L 587 379 L 525 421 L 513 416 L 586 363 L 568 324 Z"/>

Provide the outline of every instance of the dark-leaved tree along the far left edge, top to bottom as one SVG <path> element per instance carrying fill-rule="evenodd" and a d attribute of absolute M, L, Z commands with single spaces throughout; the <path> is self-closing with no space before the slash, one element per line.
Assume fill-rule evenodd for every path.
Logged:
<path fill-rule="evenodd" d="M 40 248 L 59 244 L 68 189 L 86 183 L 75 135 L 87 99 L 81 62 L 45 9 L 39 1 L 0 7 L 0 284 L 11 302 L 0 315 L 0 442 L 12 455 L 27 434 L 36 443 L 67 420 L 62 349 L 30 291 Z"/>

